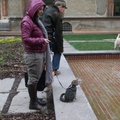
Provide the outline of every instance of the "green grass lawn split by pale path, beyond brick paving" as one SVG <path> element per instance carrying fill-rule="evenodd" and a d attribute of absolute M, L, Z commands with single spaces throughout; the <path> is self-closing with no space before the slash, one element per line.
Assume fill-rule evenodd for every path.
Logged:
<path fill-rule="evenodd" d="M 97 40 L 115 39 L 116 37 L 115 34 L 64 35 L 65 40 L 77 50 L 114 50 L 114 42 L 97 42 Z M 88 42 L 70 42 L 74 40 L 86 40 Z M 96 42 L 89 42 L 89 40 L 96 40 Z"/>

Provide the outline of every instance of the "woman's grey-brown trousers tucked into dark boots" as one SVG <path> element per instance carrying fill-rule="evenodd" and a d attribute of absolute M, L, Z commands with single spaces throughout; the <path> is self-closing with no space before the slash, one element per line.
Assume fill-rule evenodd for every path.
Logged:
<path fill-rule="evenodd" d="M 24 59 L 28 72 L 28 85 L 37 84 L 43 71 L 44 53 L 25 53 Z"/>

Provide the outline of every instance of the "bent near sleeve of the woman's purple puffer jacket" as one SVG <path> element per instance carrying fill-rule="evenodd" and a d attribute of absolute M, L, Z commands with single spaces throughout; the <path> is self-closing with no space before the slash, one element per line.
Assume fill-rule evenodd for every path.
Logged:
<path fill-rule="evenodd" d="M 29 22 L 25 21 L 21 23 L 22 30 L 22 40 L 25 44 L 34 46 L 39 45 L 44 42 L 44 38 L 42 37 L 32 37 L 33 26 Z"/>

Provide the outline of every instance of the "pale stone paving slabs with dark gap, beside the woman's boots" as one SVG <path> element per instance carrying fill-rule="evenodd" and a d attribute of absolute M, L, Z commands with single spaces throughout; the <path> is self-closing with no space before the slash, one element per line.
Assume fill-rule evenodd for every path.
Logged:
<path fill-rule="evenodd" d="M 46 94 L 39 92 L 38 97 L 46 97 Z M 29 96 L 24 79 L 0 80 L 0 111 L 5 114 L 33 112 L 29 110 Z"/>

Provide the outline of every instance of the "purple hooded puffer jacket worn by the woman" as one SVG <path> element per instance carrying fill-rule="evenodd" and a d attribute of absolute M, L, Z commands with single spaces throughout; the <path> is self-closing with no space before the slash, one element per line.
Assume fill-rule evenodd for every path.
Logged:
<path fill-rule="evenodd" d="M 45 52 L 44 35 L 35 23 L 35 13 L 45 6 L 42 0 L 31 0 L 26 16 L 21 22 L 22 41 L 26 52 Z"/>

